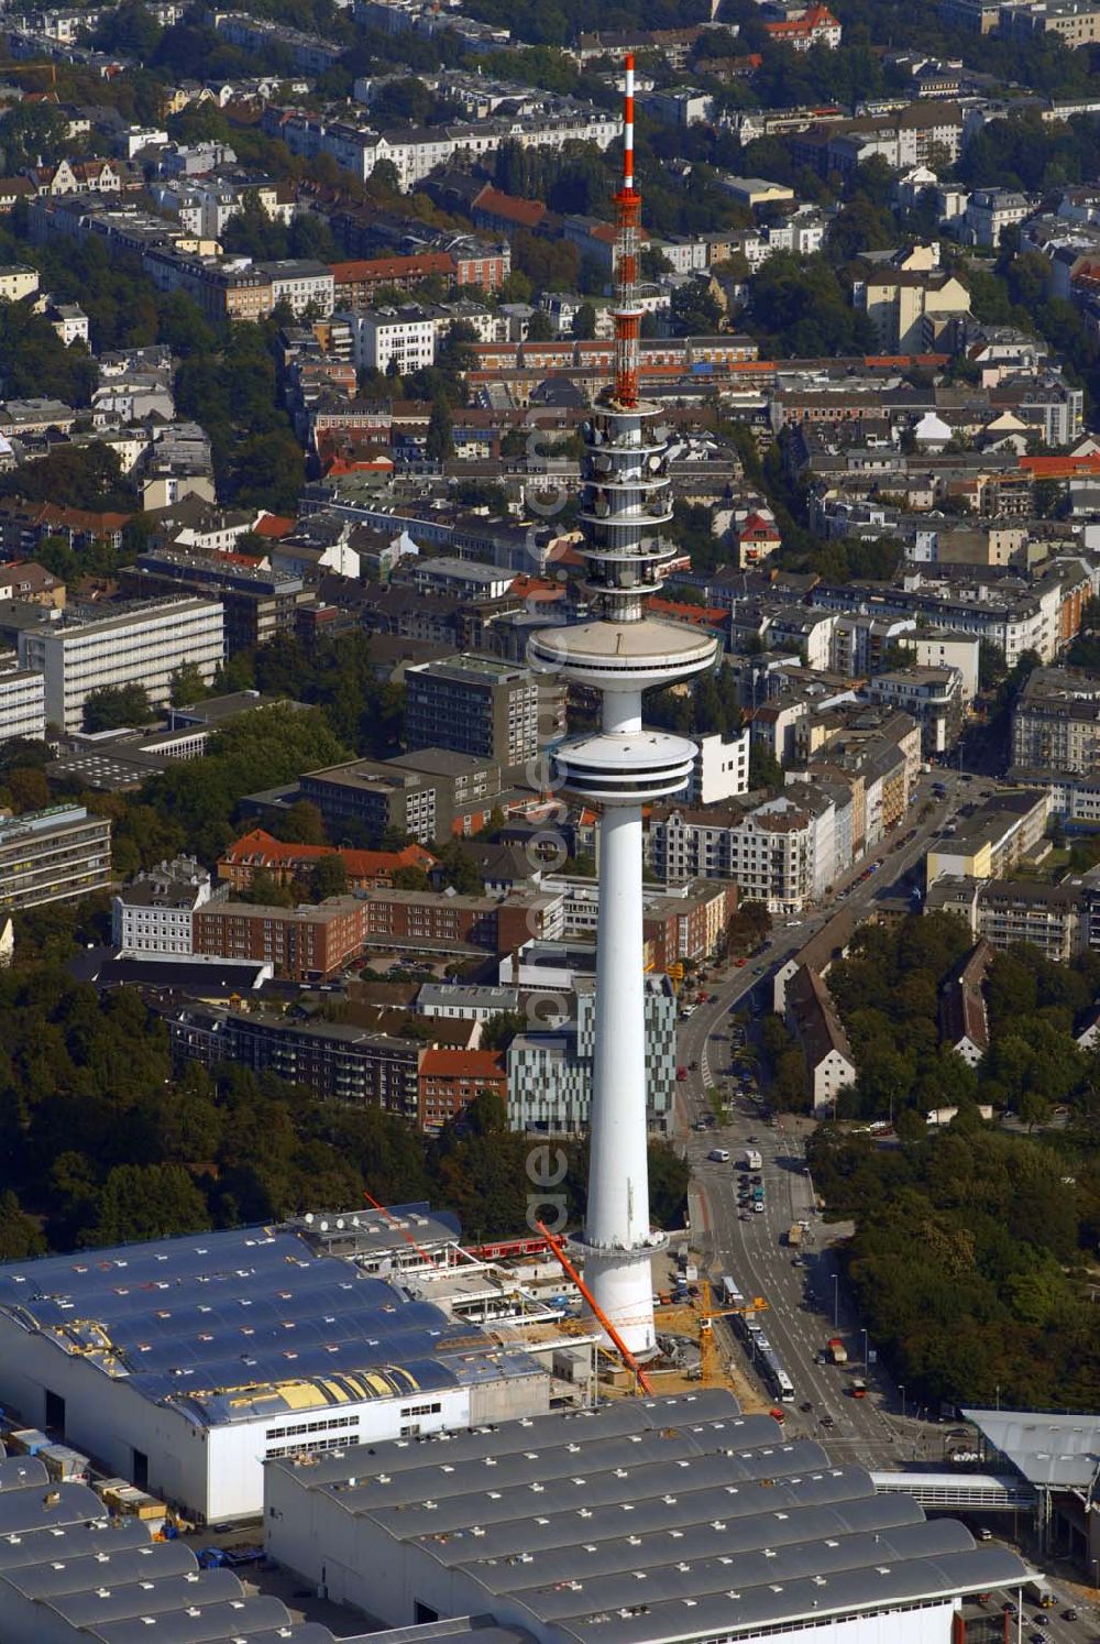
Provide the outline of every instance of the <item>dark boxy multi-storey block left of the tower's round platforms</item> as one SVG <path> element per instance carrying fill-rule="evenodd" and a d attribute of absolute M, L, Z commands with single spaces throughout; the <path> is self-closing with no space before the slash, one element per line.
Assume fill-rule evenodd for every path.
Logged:
<path fill-rule="evenodd" d="M 404 740 L 413 750 L 452 748 L 516 769 L 562 730 L 564 692 L 544 690 L 529 667 L 497 658 L 423 663 L 404 671 Z"/>

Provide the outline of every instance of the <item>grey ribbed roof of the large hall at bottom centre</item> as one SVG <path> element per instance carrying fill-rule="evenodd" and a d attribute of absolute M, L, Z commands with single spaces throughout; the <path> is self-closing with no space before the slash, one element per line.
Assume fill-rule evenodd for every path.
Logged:
<path fill-rule="evenodd" d="M 464 1603 L 539 1637 L 756 1632 L 1026 1578 L 725 1389 L 268 1465 L 368 1517 L 409 1580 L 429 1560 Z"/>

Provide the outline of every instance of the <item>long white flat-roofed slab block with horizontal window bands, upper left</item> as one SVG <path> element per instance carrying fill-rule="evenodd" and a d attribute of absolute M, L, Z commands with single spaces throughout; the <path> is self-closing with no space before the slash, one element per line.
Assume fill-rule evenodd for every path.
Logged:
<path fill-rule="evenodd" d="M 44 677 L 46 722 L 81 730 L 84 704 L 104 686 L 145 686 L 150 702 L 171 694 L 176 669 L 197 667 L 210 684 L 225 658 L 217 600 L 178 598 L 130 605 L 118 615 L 64 612 L 20 633 L 20 666 Z"/>

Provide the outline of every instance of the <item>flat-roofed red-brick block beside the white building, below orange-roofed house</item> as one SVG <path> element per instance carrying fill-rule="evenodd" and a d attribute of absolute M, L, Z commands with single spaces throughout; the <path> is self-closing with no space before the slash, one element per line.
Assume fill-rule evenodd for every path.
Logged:
<path fill-rule="evenodd" d="M 209 901 L 194 909 L 196 954 L 219 958 L 258 958 L 286 981 L 327 981 L 363 950 L 367 903 L 330 896 L 301 907 Z"/>

